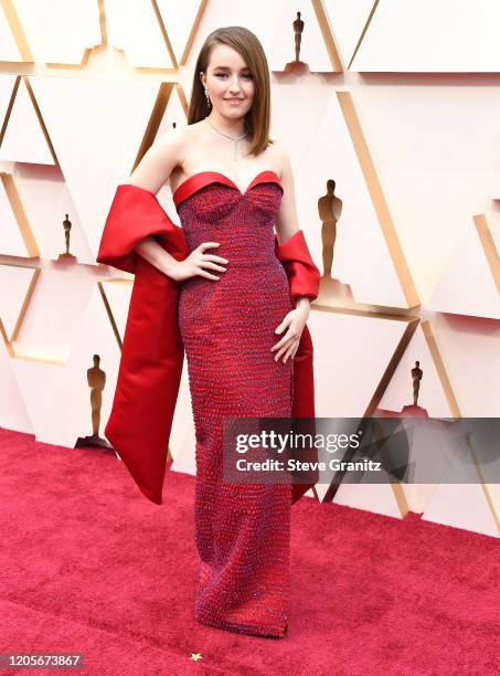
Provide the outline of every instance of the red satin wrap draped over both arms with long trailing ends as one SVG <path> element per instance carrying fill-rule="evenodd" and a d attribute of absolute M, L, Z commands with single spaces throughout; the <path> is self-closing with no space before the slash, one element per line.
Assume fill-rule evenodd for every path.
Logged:
<path fill-rule="evenodd" d="M 97 262 L 135 274 L 135 282 L 105 434 L 142 494 L 161 505 L 184 348 L 178 324 L 179 283 L 135 251 L 151 235 L 178 261 L 190 253 L 182 228 L 171 221 L 152 192 L 118 186 Z M 304 232 L 298 230 L 281 245 L 276 237 L 275 252 L 286 270 L 291 297 L 316 298 L 320 273 Z M 307 326 L 294 360 L 292 416 L 315 418 L 312 340 Z M 312 485 L 294 484 L 292 503 Z"/>

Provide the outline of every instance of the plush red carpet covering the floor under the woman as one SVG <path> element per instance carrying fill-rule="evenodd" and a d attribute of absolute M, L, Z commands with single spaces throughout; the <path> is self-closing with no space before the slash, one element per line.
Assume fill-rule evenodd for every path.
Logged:
<path fill-rule="evenodd" d="M 302 498 L 288 634 L 242 636 L 192 617 L 192 476 L 168 473 L 158 507 L 106 452 L 2 429 L 0 452 L 2 654 L 114 676 L 500 674 L 498 540 Z"/>

